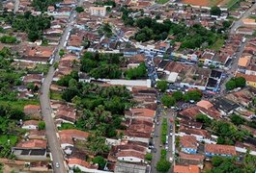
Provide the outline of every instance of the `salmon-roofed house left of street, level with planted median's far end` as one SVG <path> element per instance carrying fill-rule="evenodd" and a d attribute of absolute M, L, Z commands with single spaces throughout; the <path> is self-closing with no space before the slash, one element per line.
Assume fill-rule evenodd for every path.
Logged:
<path fill-rule="evenodd" d="M 149 119 L 153 121 L 155 115 L 156 111 L 150 109 L 132 108 L 129 111 L 125 111 L 126 118 Z"/>

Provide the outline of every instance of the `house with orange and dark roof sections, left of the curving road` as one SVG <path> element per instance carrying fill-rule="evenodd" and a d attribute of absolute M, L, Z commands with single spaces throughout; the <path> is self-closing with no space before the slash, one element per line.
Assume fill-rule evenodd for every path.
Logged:
<path fill-rule="evenodd" d="M 17 160 L 46 161 L 46 147 L 46 140 L 32 139 L 19 142 L 12 148 L 12 152 Z"/>

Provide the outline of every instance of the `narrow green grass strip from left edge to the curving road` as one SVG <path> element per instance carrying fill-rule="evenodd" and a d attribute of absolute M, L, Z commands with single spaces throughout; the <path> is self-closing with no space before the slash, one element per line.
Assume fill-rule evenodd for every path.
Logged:
<path fill-rule="evenodd" d="M 20 100 L 17 100 L 17 101 L 0 100 L 0 104 L 10 105 L 12 108 L 23 111 L 24 106 L 26 106 L 26 105 L 39 105 L 40 102 L 39 102 L 39 100 L 25 100 L 25 99 L 20 99 Z"/>

